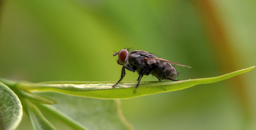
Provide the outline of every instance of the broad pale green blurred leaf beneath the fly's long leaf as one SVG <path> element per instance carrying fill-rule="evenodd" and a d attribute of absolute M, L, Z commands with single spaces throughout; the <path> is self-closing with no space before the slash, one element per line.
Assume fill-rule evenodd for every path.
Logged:
<path fill-rule="evenodd" d="M 50 112 L 74 129 L 132 129 L 122 117 L 116 100 L 77 97 L 56 92 L 37 94 L 58 102 L 54 105 L 40 105 L 41 110 Z"/>

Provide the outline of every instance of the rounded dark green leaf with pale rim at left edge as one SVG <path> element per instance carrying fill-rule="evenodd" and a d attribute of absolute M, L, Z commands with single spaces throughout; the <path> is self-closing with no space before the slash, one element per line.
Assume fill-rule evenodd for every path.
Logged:
<path fill-rule="evenodd" d="M 23 108 L 17 95 L 0 82 L 0 129 L 15 129 L 22 120 Z"/>

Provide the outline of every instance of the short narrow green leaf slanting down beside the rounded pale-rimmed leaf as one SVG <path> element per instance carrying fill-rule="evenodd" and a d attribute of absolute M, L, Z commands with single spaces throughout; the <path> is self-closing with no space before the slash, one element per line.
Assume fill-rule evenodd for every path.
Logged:
<path fill-rule="evenodd" d="M 45 117 L 41 114 L 36 105 L 28 100 L 23 100 L 25 111 L 28 113 L 32 126 L 36 130 L 56 129 Z"/>

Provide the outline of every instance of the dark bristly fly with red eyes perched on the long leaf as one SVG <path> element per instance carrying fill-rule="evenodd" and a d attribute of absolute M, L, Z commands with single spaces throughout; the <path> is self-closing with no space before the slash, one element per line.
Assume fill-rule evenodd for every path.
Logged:
<path fill-rule="evenodd" d="M 118 54 L 117 63 L 123 67 L 121 71 L 121 78 L 117 81 L 116 84 L 112 86 L 113 88 L 125 76 L 125 69 L 132 72 L 135 72 L 135 71 L 138 72 L 139 77 L 137 79 L 138 83 L 136 85 L 136 88 L 138 88 L 140 80 L 143 77 L 143 75 L 152 74 L 153 76 L 158 78 L 159 81 L 163 79 L 178 81 L 178 80 L 175 80 L 178 73 L 171 63 L 177 64 L 182 67 L 188 67 L 180 63 L 175 63 L 165 59 L 157 58 L 155 54 L 148 53 L 142 50 L 133 50 L 129 52 L 127 49 L 122 49 L 119 52 L 115 52 L 113 56 L 116 56 L 117 54 Z"/>

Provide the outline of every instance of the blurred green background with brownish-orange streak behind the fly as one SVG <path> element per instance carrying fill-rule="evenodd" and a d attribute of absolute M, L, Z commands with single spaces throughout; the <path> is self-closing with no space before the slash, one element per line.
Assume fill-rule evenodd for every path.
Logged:
<path fill-rule="evenodd" d="M 0 77 L 117 81 L 121 66 L 112 54 L 123 48 L 192 67 L 176 66 L 180 80 L 217 76 L 256 64 L 255 14 L 252 0 L 4 0 Z M 137 76 L 127 72 L 123 81 Z M 124 99 L 121 107 L 135 129 L 256 129 L 255 84 L 254 70 L 214 84 Z M 26 115 L 19 129 L 25 127 L 31 127 Z"/>

